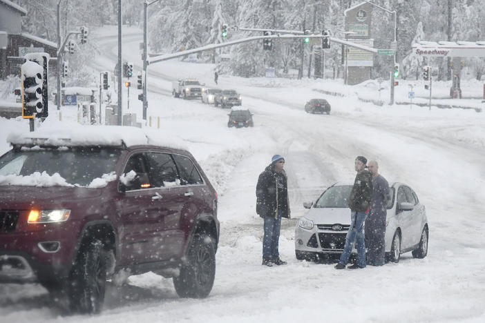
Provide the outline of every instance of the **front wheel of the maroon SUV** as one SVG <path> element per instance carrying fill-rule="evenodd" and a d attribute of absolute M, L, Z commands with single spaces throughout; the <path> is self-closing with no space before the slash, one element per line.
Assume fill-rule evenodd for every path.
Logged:
<path fill-rule="evenodd" d="M 106 253 L 99 240 L 80 251 L 71 273 L 70 308 L 79 313 L 99 313 L 106 290 Z"/>

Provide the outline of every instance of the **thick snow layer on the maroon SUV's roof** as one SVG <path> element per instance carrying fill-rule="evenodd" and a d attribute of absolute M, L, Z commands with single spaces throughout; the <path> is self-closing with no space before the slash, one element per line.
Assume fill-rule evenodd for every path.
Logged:
<path fill-rule="evenodd" d="M 152 129 L 127 126 L 82 126 L 66 123 L 55 127 L 44 122 L 32 133 L 10 133 L 7 141 L 12 145 L 45 146 L 122 146 L 153 145 L 187 150 L 178 138 L 160 138 L 160 133 Z"/>

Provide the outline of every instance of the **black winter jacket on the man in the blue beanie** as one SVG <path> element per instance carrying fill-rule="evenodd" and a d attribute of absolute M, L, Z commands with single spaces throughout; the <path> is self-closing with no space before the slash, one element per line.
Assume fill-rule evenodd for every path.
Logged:
<path fill-rule="evenodd" d="M 278 199 L 277 177 L 283 180 L 283 197 Z M 280 203 L 278 203 L 278 200 Z M 260 173 L 258 184 L 256 185 L 256 213 L 260 217 L 277 217 L 278 208 L 281 216 L 289 219 L 288 202 L 288 181 L 285 170 L 283 173 L 276 173 L 274 164 L 270 164 Z"/>

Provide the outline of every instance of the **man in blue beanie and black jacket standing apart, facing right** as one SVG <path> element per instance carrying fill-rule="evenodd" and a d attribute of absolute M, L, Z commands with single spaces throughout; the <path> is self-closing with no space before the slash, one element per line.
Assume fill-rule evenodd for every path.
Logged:
<path fill-rule="evenodd" d="M 269 267 L 287 264 L 280 260 L 278 252 L 281 217 L 289 218 L 288 184 L 283 166 L 285 159 L 274 155 L 256 185 L 256 213 L 265 220 L 263 265 Z"/>

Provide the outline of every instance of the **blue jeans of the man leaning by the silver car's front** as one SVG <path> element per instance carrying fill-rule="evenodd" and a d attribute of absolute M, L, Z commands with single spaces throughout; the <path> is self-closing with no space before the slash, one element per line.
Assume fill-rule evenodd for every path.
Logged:
<path fill-rule="evenodd" d="M 357 249 L 357 265 L 365 267 L 365 240 L 363 232 L 363 224 L 367 213 L 351 211 L 350 217 L 352 222 L 350 228 L 345 237 L 345 246 L 343 247 L 343 253 L 340 257 L 341 264 L 347 264 L 349 261 L 350 253 L 352 253 L 352 245 L 355 241 L 355 248 Z"/>

